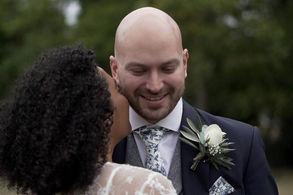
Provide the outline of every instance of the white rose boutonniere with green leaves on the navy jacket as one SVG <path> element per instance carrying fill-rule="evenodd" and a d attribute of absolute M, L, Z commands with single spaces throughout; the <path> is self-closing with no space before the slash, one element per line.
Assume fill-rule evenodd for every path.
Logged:
<path fill-rule="evenodd" d="M 191 169 L 195 170 L 202 159 L 204 159 L 204 162 L 211 162 L 217 170 L 219 170 L 218 165 L 231 169 L 228 165 L 234 165 L 231 162 L 233 159 L 225 157 L 224 154 L 235 149 L 229 148 L 234 143 L 226 142 L 228 140 L 224 139 L 226 133 L 222 132 L 221 128 L 216 124 L 202 126 L 199 115 L 196 115 L 196 122 L 199 129 L 197 129 L 194 123 L 188 118 L 187 122 L 193 131 L 186 126 L 182 126 L 185 131 L 180 132 L 187 139 L 198 142 L 199 148 L 182 137 L 179 137 L 179 139 L 200 151 L 193 159 L 194 163 Z"/>

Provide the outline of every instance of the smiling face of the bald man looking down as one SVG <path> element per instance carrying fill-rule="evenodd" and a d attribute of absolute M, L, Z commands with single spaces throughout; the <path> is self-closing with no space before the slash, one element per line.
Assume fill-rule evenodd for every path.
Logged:
<path fill-rule="evenodd" d="M 182 51 L 172 41 L 158 41 L 155 45 L 148 41 L 124 44 L 119 58 L 111 62 L 122 94 L 151 123 L 172 112 L 183 94 L 187 75 L 187 50 Z"/>

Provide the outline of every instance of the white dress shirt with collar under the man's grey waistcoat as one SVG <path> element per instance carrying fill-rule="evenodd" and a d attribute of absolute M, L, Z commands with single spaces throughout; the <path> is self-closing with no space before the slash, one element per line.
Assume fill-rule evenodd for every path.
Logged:
<path fill-rule="evenodd" d="M 150 122 L 147 122 L 140 115 L 138 115 L 131 107 L 129 108 L 129 121 L 132 126 L 132 131 L 142 126 L 147 126 L 147 128 L 165 127 L 166 129 L 170 129 L 173 131 L 172 133 L 165 134 L 161 138 L 158 145 L 158 150 L 160 151 L 164 160 L 166 176 L 168 176 L 176 143 L 178 140 L 182 112 L 183 105 L 182 98 L 180 98 L 173 111 L 166 118 L 158 121 L 156 124 L 152 124 Z M 136 141 L 141 161 L 143 162 L 143 166 L 145 166 L 147 159 L 147 147 L 138 134 L 133 133 L 133 135 Z"/>

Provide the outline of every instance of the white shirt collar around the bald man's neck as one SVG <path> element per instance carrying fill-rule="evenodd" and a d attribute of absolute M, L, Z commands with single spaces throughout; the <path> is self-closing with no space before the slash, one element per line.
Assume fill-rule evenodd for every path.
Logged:
<path fill-rule="evenodd" d="M 158 121 L 156 124 L 147 122 L 143 117 L 137 114 L 131 107 L 129 108 L 129 121 L 132 126 L 132 131 L 142 126 L 148 126 L 150 128 L 159 126 L 159 127 L 164 127 L 166 129 L 170 129 L 172 131 L 179 132 L 182 112 L 183 112 L 183 105 L 182 105 L 182 98 L 180 98 L 180 100 L 177 102 L 177 105 L 172 110 L 172 112 L 168 116 L 166 116 L 164 119 L 161 119 L 160 121 Z"/>

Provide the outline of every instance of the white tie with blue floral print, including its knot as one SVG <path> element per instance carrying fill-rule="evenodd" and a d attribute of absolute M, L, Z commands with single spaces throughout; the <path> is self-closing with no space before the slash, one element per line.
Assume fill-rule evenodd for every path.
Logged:
<path fill-rule="evenodd" d="M 171 133 L 172 130 L 166 128 L 146 128 L 145 126 L 140 127 L 133 131 L 140 135 L 143 143 L 147 146 L 147 160 L 145 168 L 159 172 L 166 176 L 164 161 L 160 151 L 158 150 L 158 144 L 163 135 Z"/>

